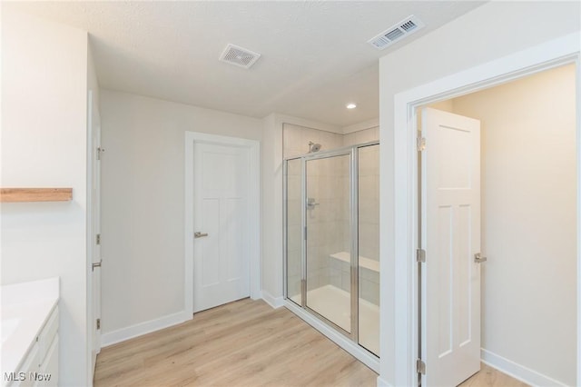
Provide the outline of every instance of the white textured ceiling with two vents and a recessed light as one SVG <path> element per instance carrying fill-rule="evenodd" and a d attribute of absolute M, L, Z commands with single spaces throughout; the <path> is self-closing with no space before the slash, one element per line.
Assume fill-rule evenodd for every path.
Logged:
<path fill-rule="evenodd" d="M 99 84 L 226 112 L 347 126 L 379 116 L 378 59 L 481 5 L 473 1 L 38 2 L 10 6 L 88 31 Z M 367 41 L 409 15 L 422 30 Z M 260 53 L 245 70 L 228 44 Z M 405 66 L 406 64 L 401 64 Z M 345 104 L 358 107 L 347 110 Z"/>

